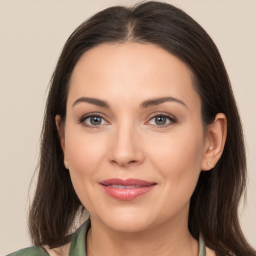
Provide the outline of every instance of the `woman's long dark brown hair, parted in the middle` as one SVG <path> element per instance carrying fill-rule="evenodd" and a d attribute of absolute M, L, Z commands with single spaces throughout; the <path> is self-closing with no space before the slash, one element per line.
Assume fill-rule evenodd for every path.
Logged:
<path fill-rule="evenodd" d="M 30 236 L 35 245 L 58 247 L 70 240 L 69 230 L 83 207 L 73 189 L 55 125 L 65 120 L 66 99 L 73 68 L 88 49 L 101 43 L 152 43 L 174 54 L 192 70 L 201 99 L 202 122 L 217 113 L 227 117 L 223 154 L 210 171 L 200 173 L 190 200 L 188 228 L 199 232 L 217 255 L 255 255 L 239 226 L 237 209 L 246 185 L 242 127 L 220 54 L 205 30 L 182 10 L 147 1 L 132 7 L 113 6 L 80 24 L 67 39 L 51 78 L 46 102 L 38 181 L 29 211 Z"/>

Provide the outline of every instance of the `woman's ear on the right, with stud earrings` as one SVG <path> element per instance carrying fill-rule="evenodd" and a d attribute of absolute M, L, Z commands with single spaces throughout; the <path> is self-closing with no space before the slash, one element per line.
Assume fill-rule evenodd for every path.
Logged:
<path fill-rule="evenodd" d="M 201 170 L 209 170 L 217 163 L 224 149 L 226 130 L 226 116 L 223 113 L 216 114 L 215 120 L 208 126 L 205 136 Z"/>

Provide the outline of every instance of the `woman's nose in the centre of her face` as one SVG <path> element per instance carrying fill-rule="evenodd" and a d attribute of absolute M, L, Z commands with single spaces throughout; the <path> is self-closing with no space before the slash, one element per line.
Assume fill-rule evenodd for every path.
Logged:
<path fill-rule="evenodd" d="M 133 127 L 119 127 L 111 136 L 108 159 L 121 167 L 138 165 L 144 160 L 141 136 Z"/>

